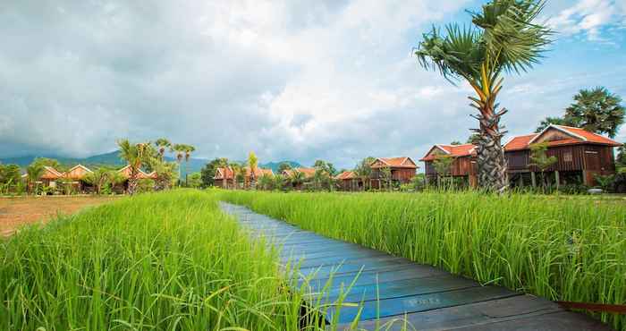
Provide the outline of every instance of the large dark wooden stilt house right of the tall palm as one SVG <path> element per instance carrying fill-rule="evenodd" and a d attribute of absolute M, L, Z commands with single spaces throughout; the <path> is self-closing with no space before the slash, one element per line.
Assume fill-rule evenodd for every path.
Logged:
<path fill-rule="evenodd" d="M 558 184 L 596 184 L 596 174 L 614 174 L 613 148 L 621 143 L 580 128 L 552 124 L 539 133 L 513 137 L 504 144 L 509 181 L 513 185 L 537 183 L 536 166 L 530 165 L 530 145 L 547 142 L 548 157 L 557 162 L 546 169 Z"/>

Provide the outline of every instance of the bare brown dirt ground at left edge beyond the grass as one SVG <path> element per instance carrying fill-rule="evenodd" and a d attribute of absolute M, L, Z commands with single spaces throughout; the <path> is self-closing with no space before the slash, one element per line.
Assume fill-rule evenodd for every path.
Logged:
<path fill-rule="evenodd" d="M 89 206 L 119 199 L 115 197 L 17 197 L 0 198 L 0 236 L 9 236 L 20 225 L 47 222 L 59 214 L 69 215 Z"/>

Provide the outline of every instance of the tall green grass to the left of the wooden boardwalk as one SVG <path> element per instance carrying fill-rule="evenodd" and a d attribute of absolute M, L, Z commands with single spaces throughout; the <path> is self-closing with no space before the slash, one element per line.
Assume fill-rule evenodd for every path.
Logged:
<path fill-rule="evenodd" d="M 299 329 L 304 293 L 264 247 L 199 191 L 25 228 L 0 240 L 0 329 Z"/>

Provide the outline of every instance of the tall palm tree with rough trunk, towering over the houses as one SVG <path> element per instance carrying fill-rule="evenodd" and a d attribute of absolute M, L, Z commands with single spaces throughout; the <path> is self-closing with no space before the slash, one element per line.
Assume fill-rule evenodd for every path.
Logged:
<path fill-rule="evenodd" d="M 478 181 L 486 190 L 507 188 L 506 159 L 500 118 L 506 109 L 495 102 L 502 89 L 503 72 L 520 73 L 537 64 L 552 31 L 535 21 L 544 7 L 540 0 L 493 0 L 480 13 L 470 13 L 476 28 L 445 27 L 446 36 L 433 29 L 423 35 L 415 51 L 419 64 L 437 70 L 448 81 L 465 80 L 478 98 L 469 97 L 478 109 Z"/>

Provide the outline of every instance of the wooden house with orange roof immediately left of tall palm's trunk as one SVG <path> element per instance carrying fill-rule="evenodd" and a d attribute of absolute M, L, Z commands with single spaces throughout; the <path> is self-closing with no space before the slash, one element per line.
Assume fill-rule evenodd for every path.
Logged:
<path fill-rule="evenodd" d="M 437 157 L 453 157 L 448 174 L 462 178 L 471 187 L 478 185 L 478 166 L 476 165 L 476 146 L 472 144 L 463 145 L 435 145 L 428 150 L 426 155 L 420 159 L 424 162 L 424 171 L 427 182 L 436 182 L 439 177 L 435 167 Z"/>

